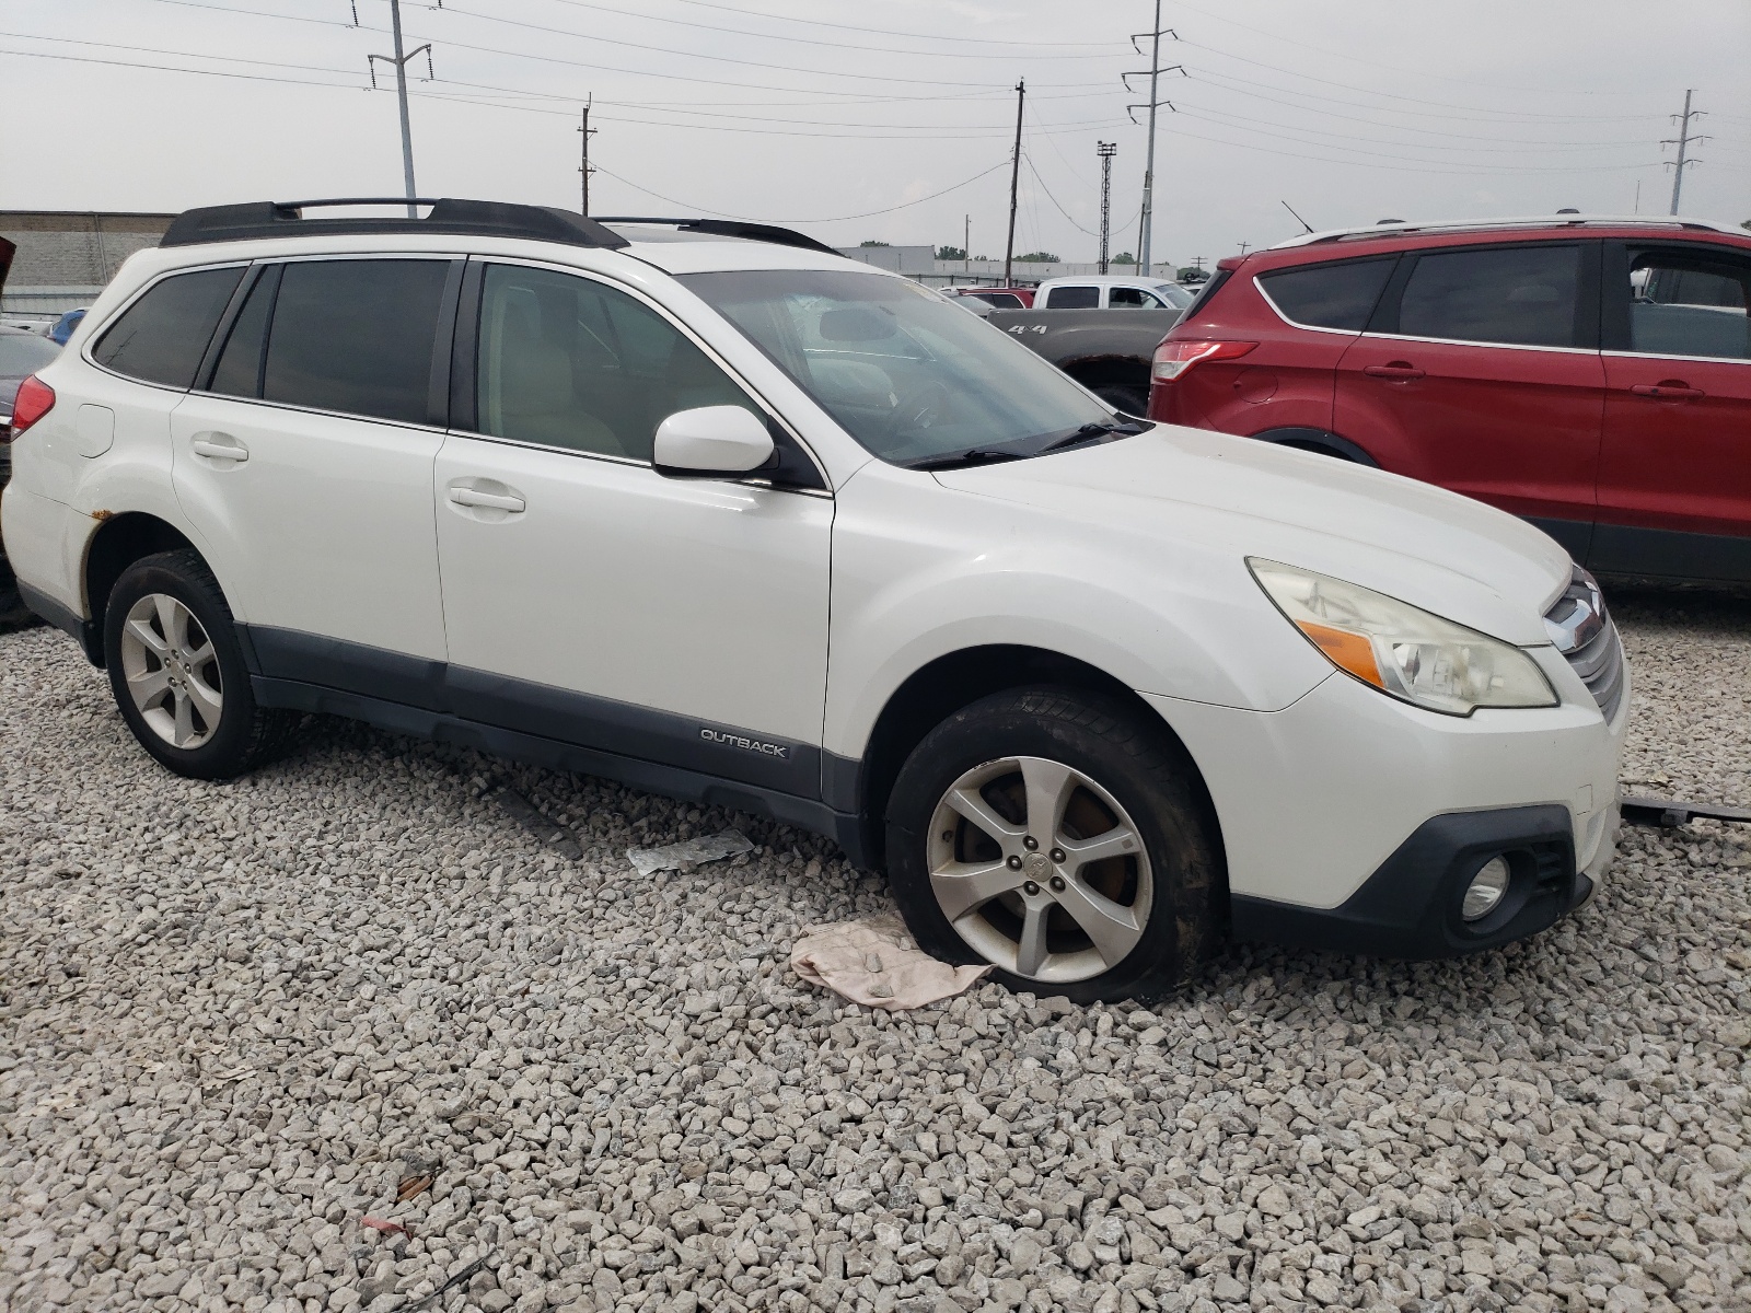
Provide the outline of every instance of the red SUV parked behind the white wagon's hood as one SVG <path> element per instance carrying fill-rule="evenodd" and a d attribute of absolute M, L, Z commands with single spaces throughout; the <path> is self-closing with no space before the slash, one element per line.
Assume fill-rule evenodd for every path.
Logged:
<path fill-rule="evenodd" d="M 1313 233 L 1224 259 L 1149 417 L 1525 516 L 1595 572 L 1751 579 L 1751 236 L 1679 219 Z"/>

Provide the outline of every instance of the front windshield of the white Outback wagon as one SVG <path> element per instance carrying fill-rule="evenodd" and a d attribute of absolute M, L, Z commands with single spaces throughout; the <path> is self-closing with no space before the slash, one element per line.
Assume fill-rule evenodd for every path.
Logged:
<path fill-rule="evenodd" d="M 681 282 L 893 464 L 1035 455 L 1115 424 L 1019 341 L 904 278 L 749 270 Z"/>

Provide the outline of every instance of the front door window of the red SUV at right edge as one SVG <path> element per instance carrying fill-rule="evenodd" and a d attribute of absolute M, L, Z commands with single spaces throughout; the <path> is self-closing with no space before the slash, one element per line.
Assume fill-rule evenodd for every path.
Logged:
<path fill-rule="evenodd" d="M 1630 252 L 1630 350 L 1751 361 L 1751 261 Z"/>

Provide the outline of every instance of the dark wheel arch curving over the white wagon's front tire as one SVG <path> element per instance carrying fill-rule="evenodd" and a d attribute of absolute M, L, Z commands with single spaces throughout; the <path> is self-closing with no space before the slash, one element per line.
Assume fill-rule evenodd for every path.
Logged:
<path fill-rule="evenodd" d="M 876 718 L 863 748 L 856 798 L 872 861 L 879 865 L 884 860 L 888 800 L 900 769 L 925 735 L 981 699 L 1040 685 L 1094 693 L 1122 706 L 1138 725 L 1159 732 L 1170 751 L 1184 758 L 1208 807 L 1213 833 L 1220 839 L 1220 823 L 1203 772 L 1173 727 L 1133 688 L 1098 665 L 1047 648 L 991 644 L 963 648 L 921 665 L 888 697 Z"/>

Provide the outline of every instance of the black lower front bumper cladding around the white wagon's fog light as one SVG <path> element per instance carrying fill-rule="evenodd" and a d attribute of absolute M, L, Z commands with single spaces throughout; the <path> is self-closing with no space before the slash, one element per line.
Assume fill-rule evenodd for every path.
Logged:
<path fill-rule="evenodd" d="M 1378 958 L 1455 958 L 1536 935 L 1593 896 L 1611 860 L 1616 804 L 1588 870 L 1574 858 L 1567 807 L 1502 807 L 1436 816 L 1406 839 L 1341 907 L 1317 909 L 1238 895 L 1236 938 Z M 1467 924 L 1460 903 L 1471 877 L 1506 856 L 1511 877 L 1501 905 Z"/>

